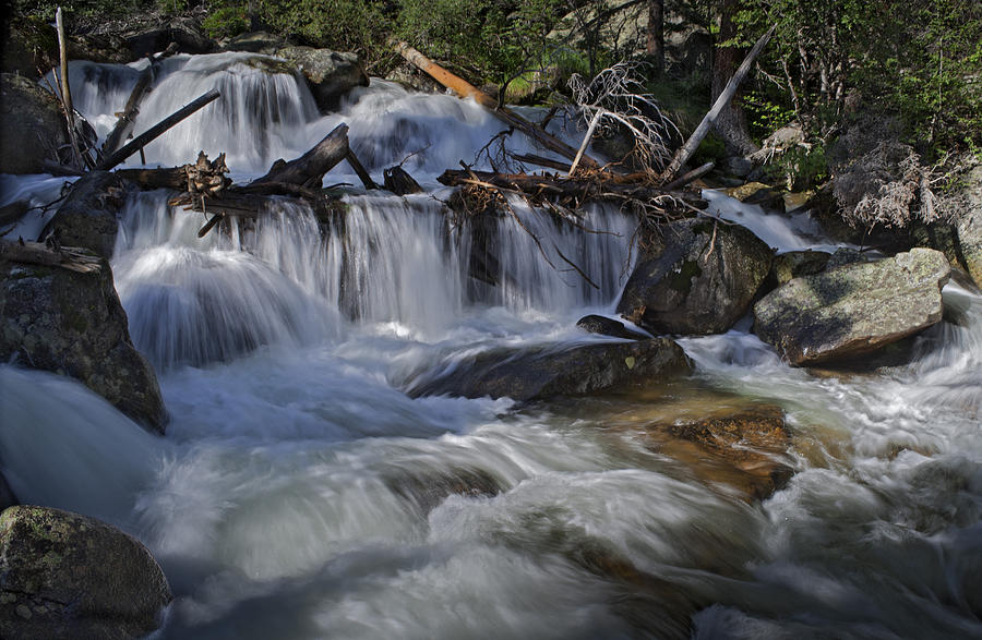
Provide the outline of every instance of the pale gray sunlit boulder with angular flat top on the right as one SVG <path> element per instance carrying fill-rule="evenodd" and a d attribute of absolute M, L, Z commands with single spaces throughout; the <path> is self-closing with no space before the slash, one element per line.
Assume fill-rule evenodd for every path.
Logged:
<path fill-rule="evenodd" d="M 933 249 L 794 278 L 754 305 L 754 333 L 795 366 L 875 351 L 942 319 L 950 266 Z"/>

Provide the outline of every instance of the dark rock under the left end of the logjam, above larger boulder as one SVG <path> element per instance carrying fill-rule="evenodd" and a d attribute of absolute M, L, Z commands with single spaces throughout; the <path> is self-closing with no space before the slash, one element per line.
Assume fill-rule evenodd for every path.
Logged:
<path fill-rule="evenodd" d="M 112 257 L 119 232 L 118 215 L 130 189 L 116 173 L 86 173 L 72 185 L 44 233 L 57 230 L 59 241 L 65 246 L 81 246 L 103 257 Z"/>

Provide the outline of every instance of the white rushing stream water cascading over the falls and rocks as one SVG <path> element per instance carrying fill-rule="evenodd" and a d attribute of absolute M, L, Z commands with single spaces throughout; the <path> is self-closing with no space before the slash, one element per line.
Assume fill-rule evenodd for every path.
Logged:
<path fill-rule="evenodd" d="M 147 545 L 176 596 L 155 637 L 982 636 L 978 291 L 949 283 L 913 363 L 874 375 L 791 369 L 742 322 L 682 339 L 692 379 L 638 397 L 410 399 L 420 372 L 481 350 L 606 339 L 575 322 L 613 314 L 633 224 L 594 207 L 583 226 L 603 233 L 589 233 L 513 203 L 555 268 L 503 218 L 488 231 L 498 283 L 480 282 L 472 229 L 434 177 L 472 161 L 496 121 L 382 81 L 321 117 L 253 59 L 165 63 L 136 133 L 207 88 L 223 98 L 148 146 L 148 165 L 227 152 L 243 179 L 346 122 L 373 176 L 405 159 L 427 193 L 352 192 L 324 233 L 274 204 L 204 240 L 167 193 L 131 200 L 112 267 L 171 415 L 164 438 L 74 382 L 0 365 L 0 469 L 22 502 Z M 72 65 L 100 136 L 139 68 Z M 804 218 L 711 200 L 774 246 L 829 244 Z M 786 413 L 795 474 L 763 502 L 646 445 L 646 416 L 720 397 Z"/>

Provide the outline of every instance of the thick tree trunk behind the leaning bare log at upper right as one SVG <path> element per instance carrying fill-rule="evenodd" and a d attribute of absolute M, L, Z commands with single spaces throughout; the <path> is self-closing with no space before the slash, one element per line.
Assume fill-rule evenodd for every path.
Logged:
<path fill-rule="evenodd" d="M 726 43 L 736 37 L 736 25 L 733 17 L 741 8 L 741 0 L 722 0 L 720 3 L 718 43 Z M 712 59 L 712 100 L 716 100 L 727 86 L 727 82 L 736 70 L 743 55 L 736 47 L 719 47 L 714 49 Z M 740 104 L 740 93 L 730 100 L 716 119 L 716 133 L 722 138 L 727 153 L 734 156 L 746 156 L 758 149 L 751 140 L 746 128 L 746 114 Z"/>

